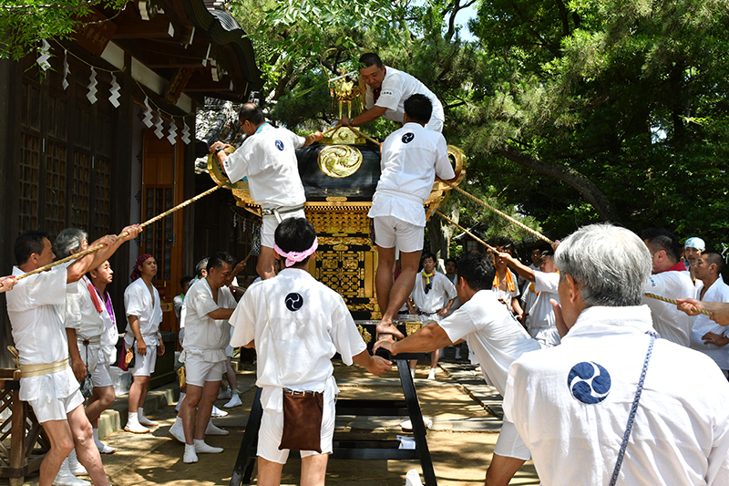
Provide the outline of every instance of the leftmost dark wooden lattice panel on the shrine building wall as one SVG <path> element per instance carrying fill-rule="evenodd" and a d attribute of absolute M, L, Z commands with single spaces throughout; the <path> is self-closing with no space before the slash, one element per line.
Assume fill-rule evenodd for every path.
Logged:
<path fill-rule="evenodd" d="M 40 139 L 20 132 L 20 210 L 21 232 L 38 228 L 38 171 Z"/>

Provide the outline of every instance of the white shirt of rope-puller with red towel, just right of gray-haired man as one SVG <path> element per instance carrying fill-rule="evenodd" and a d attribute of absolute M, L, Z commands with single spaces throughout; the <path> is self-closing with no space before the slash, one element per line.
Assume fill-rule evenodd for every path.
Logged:
<path fill-rule="evenodd" d="M 696 289 L 684 272 L 666 271 L 651 275 L 645 292 L 669 299 L 693 298 Z M 681 346 L 691 346 L 691 315 L 678 310 L 675 304 L 643 296 L 643 304 L 651 307 L 653 328 L 662 338 Z"/>

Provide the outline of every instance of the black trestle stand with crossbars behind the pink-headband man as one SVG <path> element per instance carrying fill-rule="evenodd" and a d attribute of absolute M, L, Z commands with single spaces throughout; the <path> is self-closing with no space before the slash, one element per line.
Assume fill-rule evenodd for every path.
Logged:
<path fill-rule="evenodd" d="M 410 376 L 408 362 L 410 359 L 424 359 L 423 354 L 403 354 L 395 359 L 400 374 L 400 384 L 403 387 L 404 400 L 347 400 L 337 399 L 337 415 L 356 416 L 395 416 L 409 417 L 413 424 L 413 436 L 416 440 L 416 449 L 398 449 L 400 441 L 396 439 L 334 439 L 334 451 L 330 459 L 355 460 L 420 460 L 420 467 L 426 486 L 437 486 L 436 472 L 433 470 L 433 461 L 427 448 L 426 427 L 423 424 L 423 414 L 417 401 L 416 387 Z M 245 433 L 241 442 L 241 450 L 235 461 L 230 486 L 251 484 L 253 466 L 256 461 L 256 448 L 258 445 L 258 430 L 261 428 L 263 410 L 261 406 L 261 389 L 253 398 L 251 415 L 248 418 Z M 293 455 L 294 451 L 292 451 Z"/>

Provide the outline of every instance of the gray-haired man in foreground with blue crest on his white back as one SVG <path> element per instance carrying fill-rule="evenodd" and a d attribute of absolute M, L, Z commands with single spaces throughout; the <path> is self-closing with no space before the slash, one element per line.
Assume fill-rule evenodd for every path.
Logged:
<path fill-rule="evenodd" d="M 729 383 L 710 358 L 655 338 L 646 245 L 593 224 L 555 264 L 562 343 L 515 361 L 504 396 L 541 483 L 729 484 Z"/>

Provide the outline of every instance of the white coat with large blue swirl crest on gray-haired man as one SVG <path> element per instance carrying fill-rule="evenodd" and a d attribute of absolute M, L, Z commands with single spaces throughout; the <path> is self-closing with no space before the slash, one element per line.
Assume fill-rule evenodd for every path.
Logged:
<path fill-rule="evenodd" d="M 590 307 L 560 346 L 508 372 L 504 413 L 544 485 L 609 484 L 652 332 L 651 311 Z M 618 484 L 729 484 L 729 382 L 656 339 Z"/>

